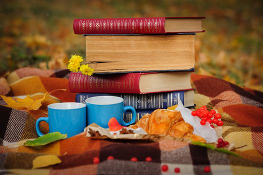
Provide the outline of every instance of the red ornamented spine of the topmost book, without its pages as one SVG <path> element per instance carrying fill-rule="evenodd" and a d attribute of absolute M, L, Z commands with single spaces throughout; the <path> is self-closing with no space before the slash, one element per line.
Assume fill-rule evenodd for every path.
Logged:
<path fill-rule="evenodd" d="M 165 33 L 165 17 L 74 19 L 75 34 Z"/>

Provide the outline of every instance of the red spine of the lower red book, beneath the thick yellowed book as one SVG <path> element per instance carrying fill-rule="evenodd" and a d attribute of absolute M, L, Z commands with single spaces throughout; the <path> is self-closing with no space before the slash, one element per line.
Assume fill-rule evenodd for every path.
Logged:
<path fill-rule="evenodd" d="M 68 86 L 71 92 L 140 93 L 141 73 L 84 75 L 70 72 Z"/>

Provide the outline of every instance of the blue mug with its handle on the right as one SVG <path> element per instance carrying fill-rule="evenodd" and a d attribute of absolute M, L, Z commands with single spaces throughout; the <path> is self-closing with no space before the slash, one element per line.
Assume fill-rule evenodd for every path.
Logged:
<path fill-rule="evenodd" d="M 85 100 L 87 105 L 87 124 L 96 123 L 103 128 L 108 128 L 108 121 L 115 117 L 123 126 L 135 122 L 136 111 L 132 106 L 123 106 L 123 98 L 118 96 L 93 96 Z M 123 112 L 132 111 L 129 122 L 123 120 Z"/>

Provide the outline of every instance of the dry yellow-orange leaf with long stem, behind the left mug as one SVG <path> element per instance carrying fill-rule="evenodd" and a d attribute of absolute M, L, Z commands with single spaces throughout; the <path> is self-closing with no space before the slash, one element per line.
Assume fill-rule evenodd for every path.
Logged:
<path fill-rule="evenodd" d="M 43 97 L 39 99 L 32 99 L 29 95 L 25 98 L 18 98 L 18 97 L 11 97 L 11 96 L 4 96 L 0 95 L 4 102 L 7 103 L 7 107 L 16 108 L 16 109 L 27 109 L 27 110 L 37 110 L 42 104 L 41 102 L 48 96 L 51 92 L 57 90 L 66 90 L 66 89 L 56 89 L 50 92 L 46 92 Z"/>

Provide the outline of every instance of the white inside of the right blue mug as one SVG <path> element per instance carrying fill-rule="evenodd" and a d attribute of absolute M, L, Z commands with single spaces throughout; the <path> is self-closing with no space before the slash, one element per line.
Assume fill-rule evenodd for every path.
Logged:
<path fill-rule="evenodd" d="M 106 104 L 117 104 L 123 102 L 123 98 L 118 96 L 93 96 L 86 98 L 86 103 L 89 104 L 98 104 L 98 105 L 106 105 Z"/>

